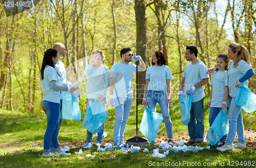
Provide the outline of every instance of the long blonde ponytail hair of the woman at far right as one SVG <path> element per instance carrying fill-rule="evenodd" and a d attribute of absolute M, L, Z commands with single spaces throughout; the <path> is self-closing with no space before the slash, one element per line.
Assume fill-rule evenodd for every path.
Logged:
<path fill-rule="evenodd" d="M 238 52 L 238 59 L 234 62 L 234 68 L 238 66 L 241 60 L 244 60 L 251 67 L 250 54 L 245 46 L 233 42 L 228 47 L 232 49 L 233 53 Z"/>

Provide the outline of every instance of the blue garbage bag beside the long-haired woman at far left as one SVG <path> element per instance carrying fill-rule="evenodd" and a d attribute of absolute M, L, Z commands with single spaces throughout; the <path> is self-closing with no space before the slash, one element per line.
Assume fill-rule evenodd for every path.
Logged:
<path fill-rule="evenodd" d="M 79 90 L 75 91 L 79 95 Z M 81 110 L 78 105 L 79 98 L 78 95 L 73 95 L 69 91 L 62 91 L 61 98 L 62 98 L 62 118 L 79 121 L 81 120 Z"/>

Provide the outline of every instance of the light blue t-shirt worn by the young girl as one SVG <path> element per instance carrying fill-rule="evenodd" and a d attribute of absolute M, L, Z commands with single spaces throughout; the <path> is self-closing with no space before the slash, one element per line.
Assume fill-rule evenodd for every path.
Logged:
<path fill-rule="evenodd" d="M 228 86 L 227 71 L 215 72 L 210 80 L 212 86 L 211 104 L 210 107 L 221 107 L 223 103 L 225 86 Z M 227 99 L 227 107 L 230 106 L 229 98 Z"/>

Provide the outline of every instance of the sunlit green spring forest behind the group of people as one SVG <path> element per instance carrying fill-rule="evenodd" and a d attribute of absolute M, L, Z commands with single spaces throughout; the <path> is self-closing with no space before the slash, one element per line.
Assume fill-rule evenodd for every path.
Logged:
<path fill-rule="evenodd" d="M 253 0 L 41 0 L 34 8 L 10 15 L 0 2 L 0 109 L 41 113 L 40 74 L 44 51 L 56 42 L 65 44 L 61 59 L 67 79 L 83 75 L 94 49 L 104 52 L 104 65 L 119 61 L 120 50 L 131 47 L 151 66 L 152 52 L 162 50 L 172 70 L 172 98 L 177 98 L 184 66 L 185 48 L 196 45 L 198 58 L 207 67 L 216 65 L 228 45 L 244 45 L 255 71 L 256 3 Z M 139 72 L 139 102 L 145 72 Z M 249 88 L 256 91 L 256 76 Z M 86 101 L 86 80 L 80 84 L 80 108 Z M 134 80 L 134 88 L 136 82 Z M 134 89 L 135 91 L 135 89 Z M 209 94 L 209 83 L 205 92 Z M 135 99 L 134 99 L 135 100 Z"/>

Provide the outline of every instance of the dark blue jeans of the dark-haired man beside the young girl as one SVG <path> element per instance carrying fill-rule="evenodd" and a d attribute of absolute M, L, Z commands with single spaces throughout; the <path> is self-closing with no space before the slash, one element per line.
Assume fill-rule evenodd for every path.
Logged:
<path fill-rule="evenodd" d="M 189 141 L 204 141 L 204 98 L 192 103 L 187 128 Z"/>

